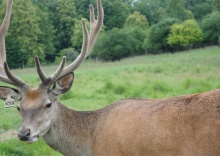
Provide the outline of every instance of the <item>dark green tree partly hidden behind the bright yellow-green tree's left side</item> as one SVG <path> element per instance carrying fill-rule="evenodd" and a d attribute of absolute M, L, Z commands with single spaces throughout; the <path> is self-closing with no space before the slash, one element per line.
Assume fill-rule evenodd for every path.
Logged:
<path fill-rule="evenodd" d="M 150 28 L 150 31 L 144 40 L 143 48 L 148 53 L 160 53 L 172 50 L 167 43 L 167 38 L 170 33 L 170 27 L 179 20 L 167 18 Z"/>

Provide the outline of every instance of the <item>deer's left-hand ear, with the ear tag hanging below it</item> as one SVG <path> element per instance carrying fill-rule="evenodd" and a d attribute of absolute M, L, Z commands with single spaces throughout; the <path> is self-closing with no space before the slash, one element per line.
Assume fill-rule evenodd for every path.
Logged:
<path fill-rule="evenodd" d="M 0 86 L 0 99 L 6 100 L 8 95 L 15 101 L 21 100 L 21 94 L 17 89 Z"/>

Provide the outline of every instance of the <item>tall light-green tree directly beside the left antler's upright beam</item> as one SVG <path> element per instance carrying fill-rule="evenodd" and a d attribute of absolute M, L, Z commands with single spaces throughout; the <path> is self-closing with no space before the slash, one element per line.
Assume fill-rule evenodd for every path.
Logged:
<path fill-rule="evenodd" d="M 5 8 L 6 0 L 3 1 Z M 0 9 L 4 14 L 4 9 Z M 40 43 L 40 18 L 30 0 L 14 1 L 9 31 L 6 35 L 7 60 L 13 68 L 32 65 L 34 56 L 45 57 L 45 46 Z"/>

